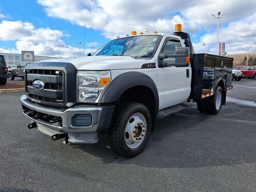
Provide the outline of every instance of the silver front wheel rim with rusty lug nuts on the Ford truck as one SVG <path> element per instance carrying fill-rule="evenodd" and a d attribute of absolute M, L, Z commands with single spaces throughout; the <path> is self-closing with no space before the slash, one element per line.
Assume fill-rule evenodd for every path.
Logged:
<path fill-rule="evenodd" d="M 143 114 L 133 114 L 126 123 L 124 140 L 129 148 L 137 148 L 145 139 L 147 131 L 147 121 Z"/>

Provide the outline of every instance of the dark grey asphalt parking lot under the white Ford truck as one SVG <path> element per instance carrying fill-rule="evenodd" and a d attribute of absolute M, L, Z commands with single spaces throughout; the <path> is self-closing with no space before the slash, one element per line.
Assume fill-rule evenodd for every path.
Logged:
<path fill-rule="evenodd" d="M 164 120 L 139 156 L 97 144 L 55 142 L 0 94 L 0 191 L 256 191 L 256 80 L 233 81 L 220 114 L 196 104 Z"/>

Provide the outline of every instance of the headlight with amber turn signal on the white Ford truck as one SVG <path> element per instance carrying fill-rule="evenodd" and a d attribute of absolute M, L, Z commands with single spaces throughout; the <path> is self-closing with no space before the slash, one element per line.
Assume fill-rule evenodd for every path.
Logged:
<path fill-rule="evenodd" d="M 78 102 L 97 102 L 111 80 L 110 71 L 78 71 Z"/>

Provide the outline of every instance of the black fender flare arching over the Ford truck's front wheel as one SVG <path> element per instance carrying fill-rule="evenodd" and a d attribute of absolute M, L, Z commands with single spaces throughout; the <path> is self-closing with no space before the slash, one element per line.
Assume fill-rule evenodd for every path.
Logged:
<path fill-rule="evenodd" d="M 117 102 L 120 96 L 134 86 L 146 86 L 150 88 L 155 99 L 155 115 L 158 114 L 159 98 L 158 90 L 152 78 L 141 72 L 126 72 L 114 78 L 102 93 L 99 103 Z"/>

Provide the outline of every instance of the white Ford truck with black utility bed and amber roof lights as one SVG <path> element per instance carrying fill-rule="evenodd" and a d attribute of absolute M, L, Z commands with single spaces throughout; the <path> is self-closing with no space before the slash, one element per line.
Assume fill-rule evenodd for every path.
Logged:
<path fill-rule="evenodd" d="M 108 132 L 117 154 L 132 158 L 145 148 L 155 119 L 197 102 L 218 114 L 232 88 L 233 59 L 195 54 L 189 34 L 132 32 L 108 42 L 92 56 L 40 61 L 25 68 L 23 113 L 28 128 L 96 143 Z"/>

